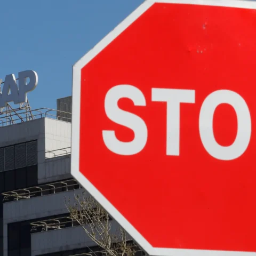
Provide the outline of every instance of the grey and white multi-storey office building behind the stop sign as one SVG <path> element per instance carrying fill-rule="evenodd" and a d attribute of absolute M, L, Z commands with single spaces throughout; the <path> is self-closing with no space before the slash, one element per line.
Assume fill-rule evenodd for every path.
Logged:
<path fill-rule="evenodd" d="M 71 100 L 61 101 L 0 116 L 0 256 L 102 255 L 64 202 L 83 188 L 70 174 Z"/>

